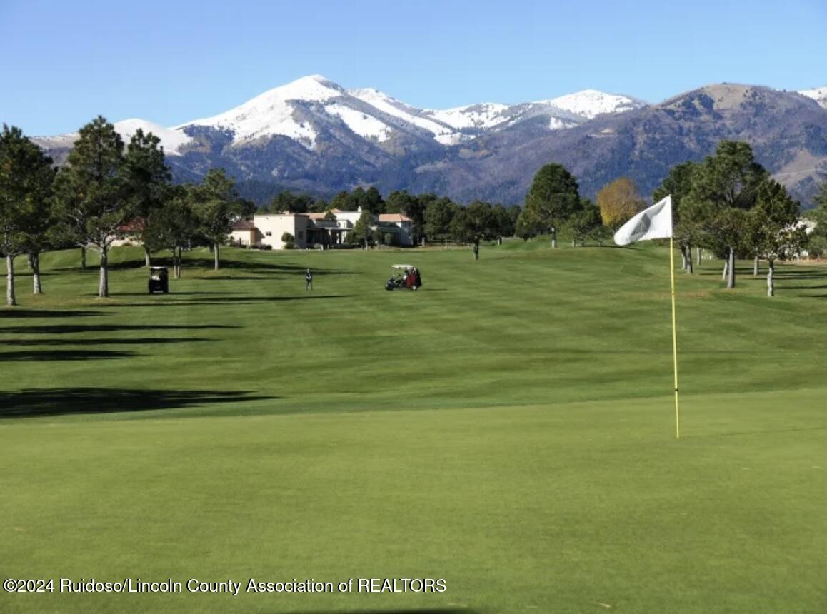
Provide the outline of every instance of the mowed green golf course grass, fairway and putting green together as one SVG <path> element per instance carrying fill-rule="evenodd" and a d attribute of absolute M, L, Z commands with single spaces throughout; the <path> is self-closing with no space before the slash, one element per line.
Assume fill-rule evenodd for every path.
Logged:
<path fill-rule="evenodd" d="M 0 309 L 2 612 L 827 612 L 827 268 L 777 297 L 667 250 L 77 250 Z M 385 292 L 390 264 L 422 290 Z M 94 265 L 90 258 L 90 264 Z M 315 273 L 304 291 L 304 269 Z M 445 593 L 254 594 L 293 578 Z"/>

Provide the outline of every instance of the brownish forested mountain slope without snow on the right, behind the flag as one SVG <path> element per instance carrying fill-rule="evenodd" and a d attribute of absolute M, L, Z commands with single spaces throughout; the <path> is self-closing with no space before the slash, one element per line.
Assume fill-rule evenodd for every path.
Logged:
<path fill-rule="evenodd" d="M 758 161 L 803 202 L 827 172 L 827 110 L 798 93 L 719 84 L 661 104 L 543 134 L 525 122 L 465 146 L 441 164 L 415 169 L 414 189 L 442 188 L 467 201 L 520 202 L 549 161 L 570 169 L 581 191 L 629 176 L 646 195 L 674 164 L 710 155 L 720 140 L 746 140 Z"/>

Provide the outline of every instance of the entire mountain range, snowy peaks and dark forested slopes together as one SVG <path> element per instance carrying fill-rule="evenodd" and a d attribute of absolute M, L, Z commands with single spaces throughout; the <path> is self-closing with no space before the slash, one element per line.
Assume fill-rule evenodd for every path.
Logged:
<path fill-rule="evenodd" d="M 522 202 L 533 174 L 552 161 L 566 164 L 587 197 L 622 175 L 647 194 L 672 164 L 702 159 L 722 139 L 751 142 L 805 205 L 827 172 L 827 87 L 714 83 L 657 104 L 583 90 L 440 110 L 310 75 L 172 128 L 116 123 L 125 138 L 137 127 L 161 137 L 176 180 L 197 181 L 220 166 L 241 193 L 255 184 L 259 201 L 284 188 L 329 195 L 375 185 L 510 204 Z M 71 136 L 36 142 L 60 161 Z"/>

